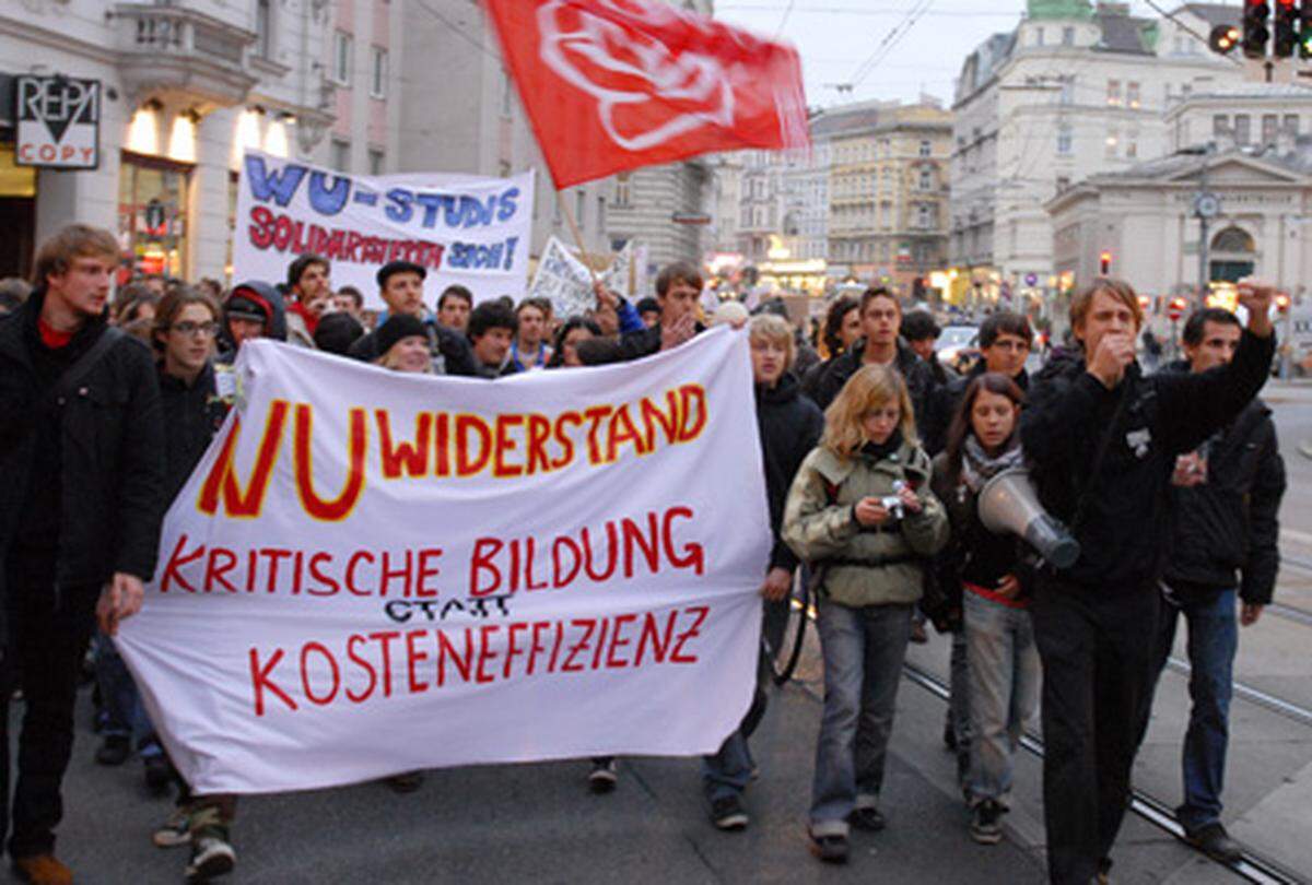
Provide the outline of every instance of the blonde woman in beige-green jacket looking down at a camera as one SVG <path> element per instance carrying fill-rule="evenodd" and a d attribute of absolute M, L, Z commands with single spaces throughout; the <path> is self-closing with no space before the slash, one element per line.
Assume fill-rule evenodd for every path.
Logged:
<path fill-rule="evenodd" d="M 848 859 L 849 826 L 884 827 L 879 792 L 912 607 L 924 557 L 947 540 L 929 479 L 907 383 L 866 366 L 825 412 L 789 492 L 783 540 L 820 573 L 825 704 L 810 834 L 825 861 Z"/>

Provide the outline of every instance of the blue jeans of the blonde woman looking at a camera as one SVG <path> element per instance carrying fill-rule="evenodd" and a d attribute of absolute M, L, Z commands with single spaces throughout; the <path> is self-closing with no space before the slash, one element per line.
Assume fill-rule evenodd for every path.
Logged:
<path fill-rule="evenodd" d="M 811 833 L 846 835 L 848 816 L 878 808 L 893 730 L 911 606 L 820 604 L 824 718 L 811 788 Z"/>

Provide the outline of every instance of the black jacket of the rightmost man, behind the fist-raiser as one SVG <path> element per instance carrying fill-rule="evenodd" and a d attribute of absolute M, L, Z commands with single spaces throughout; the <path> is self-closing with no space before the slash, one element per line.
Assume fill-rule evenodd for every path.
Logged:
<path fill-rule="evenodd" d="M 1168 371 L 1187 371 L 1187 364 Z M 1203 446 L 1207 481 L 1170 488 L 1172 541 L 1164 580 L 1178 594 L 1237 586 L 1244 602 L 1265 606 L 1281 566 L 1277 514 L 1286 486 L 1271 410 L 1253 400 Z"/>

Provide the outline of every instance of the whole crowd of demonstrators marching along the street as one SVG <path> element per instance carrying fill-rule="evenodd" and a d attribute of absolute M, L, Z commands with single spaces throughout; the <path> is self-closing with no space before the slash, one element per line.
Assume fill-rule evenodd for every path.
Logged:
<path fill-rule="evenodd" d="M 934 357 L 933 317 L 904 315 L 879 287 L 836 299 L 820 340 L 807 341 L 782 302 L 756 316 L 732 303 L 703 317 L 703 279 L 680 264 L 659 275 L 653 298 L 632 304 L 598 286 L 592 309 L 564 317 L 542 299 L 475 304 L 461 286 L 426 303 L 425 269 L 404 261 L 377 271 L 382 312 L 366 311 L 352 287 L 333 288 L 316 256 L 297 258 L 285 281 L 223 292 L 211 281 L 143 279 L 110 300 L 117 265 L 112 235 L 72 226 L 42 244 L 30 288 L 0 281 L 9 315 L 0 319 L 0 472 L 10 480 L 0 492 L 0 698 L 18 691 L 24 703 L 0 833 L 26 881 L 72 881 L 54 855 L 54 829 L 91 641 L 97 760 L 135 754 L 152 791 L 176 787 L 176 810 L 154 840 L 190 847 L 189 877 L 232 869 L 236 797 L 193 795 L 176 775 L 113 636 L 142 604 L 161 514 L 226 417 L 245 342 L 496 379 L 640 359 L 689 341 L 703 319 L 745 325 L 750 341 L 774 534 L 761 581 L 766 646 L 781 645 L 795 582 L 817 590 L 825 692 L 813 854 L 846 860 L 851 827 L 888 823 L 880 796 L 897 687 L 928 619 L 953 636 L 943 739 L 956 753 L 970 836 L 1002 838 L 1013 757 L 1042 707 L 1051 880 L 1105 881 L 1183 614 L 1195 678 L 1179 817 L 1199 847 L 1235 856 L 1220 823 L 1229 667 L 1236 623 L 1256 621 L 1273 593 L 1284 488 L 1270 413 L 1254 399 L 1274 350 L 1269 288 L 1241 290 L 1246 329 L 1224 311 L 1195 313 L 1187 359 L 1145 375 L 1135 358 L 1139 299 L 1098 279 L 1071 303 L 1075 347 L 1054 351 L 1033 378 L 1030 323 L 1009 312 L 984 321 L 979 361 L 958 376 Z M 981 489 L 1018 468 L 1080 541 L 1071 568 L 981 523 Z M 748 739 L 765 715 L 764 677 L 760 686 L 741 726 L 702 762 L 710 818 L 723 830 L 749 822 L 744 791 L 757 764 Z M 0 709 L 0 728 L 8 721 Z M 614 759 L 592 760 L 596 792 L 617 776 Z M 421 779 L 387 783 L 408 792 Z"/>

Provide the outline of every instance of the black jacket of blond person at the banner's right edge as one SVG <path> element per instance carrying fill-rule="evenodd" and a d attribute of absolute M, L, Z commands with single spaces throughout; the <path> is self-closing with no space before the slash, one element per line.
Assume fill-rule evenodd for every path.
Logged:
<path fill-rule="evenodd" d="M 756 423 L 761 431 L 761 458 L 765 463 L 765 490 L 770 502 L 770 568 L 791 572 L 798 557 L 779 538 L 783 528 L 783 505 L 789 500 L 792 477 L 807 454 L 820 442 L 824 414 L 803 396 L 796 376 L 786 374 L 774 387 L 756 385 Z"/>

